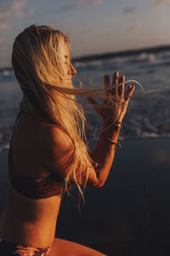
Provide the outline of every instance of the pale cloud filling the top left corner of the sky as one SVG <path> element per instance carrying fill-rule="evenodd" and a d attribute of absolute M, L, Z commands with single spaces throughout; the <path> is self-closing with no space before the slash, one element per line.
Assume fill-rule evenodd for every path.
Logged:
<path fill-rule="evenodd" d="M 20 20 L 25 16 L 23 9 L 29 0 L 14 0 L 0 7 L 0 30 L 7 30 L 11 20 Z"/>

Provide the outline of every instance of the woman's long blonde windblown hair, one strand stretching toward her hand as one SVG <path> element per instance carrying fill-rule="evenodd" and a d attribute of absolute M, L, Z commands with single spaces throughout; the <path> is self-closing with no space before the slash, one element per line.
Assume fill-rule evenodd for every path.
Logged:
<path fill-rule="evenodd" d="M 59 30 L 49 26 L 27 27 L 15 38 L 12 65 L 14 74 L 23 91 L 20 108 L 26 113 L 46 120 L 48 123 L 61 125 L 71 137 L 73 154 L 71 168 L 65 177 L 65 187 L 75 178 L 82 194 L 82 172 L 77 179 L 77 166 L 85 166 L 88 181 L 88 162 L 96 165 L 89 156 L 86 139 L 86 118 L 82 105 L 76 96 L 103 96 L 104 89 L 75 88 L 65 74 L 65 57 L 60 54 L 61 47 L 69 44 L 69 39 Z M 114 99 L 109 97 L 114 102 Z M 109 105 L 108 105 L 109 106 Z M 84 186 L 86 183 L 84 184 Z"/>

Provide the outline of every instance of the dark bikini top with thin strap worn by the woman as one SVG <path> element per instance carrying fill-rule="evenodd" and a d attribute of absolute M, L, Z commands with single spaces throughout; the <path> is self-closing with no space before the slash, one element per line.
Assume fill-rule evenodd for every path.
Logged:
<path fill-rule="evenodd" d="M 17 115 L 14 127 L 22 113 L 23 112 L 20 110 Z M 12 152 L 13 137 L 14 130 L 8 150 L 8 177 L 14 189 L 21 195 L 25 195 L 26 197 L 32 199 L 48 198 L 54 195 L 59 195 L 61 192 L 65 192 L 64 178 L 59 177 L 55 173 L 50 174 L 48 177 L 35 178 L 24 177 L 15 172 Z"/>

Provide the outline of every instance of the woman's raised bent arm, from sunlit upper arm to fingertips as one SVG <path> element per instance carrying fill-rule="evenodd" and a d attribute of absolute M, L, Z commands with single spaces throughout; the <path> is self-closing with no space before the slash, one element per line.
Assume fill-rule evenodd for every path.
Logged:
<path fill-rule="evenodd" d="M 116 86 L 113 86 L 111 90 L 111 94 L 116 99 L 115 108 L 105 108 L 105 104 L 103 103 L 101 106 L 95 102 L 94 98 L 88 97 L 88 102 L 90 102 L 97 113 L 101 116 L 104 121 L 103 129 L 104 136 L 100 135 L 99 141 L 96 144 L 94 150 L 90 153 L 90 157 L 92 160 L 97 162 L 98 166 L 92 166 L 91 162 L 88 163 L 89 172 L 88 172 L 88 182 L 87 186 L 100 188 L 104 185 L 105 180 L 110 172 L 111 165 L 114 159 L 116 144 L 109 142 L 105 139 L 105 137 L 111 139 L 116 143 L 117 137 L 120 131 L 120 125 L 111 125 L 114 119 L 117 119 L 116 122 L 122 122 L 122 119 L 127 110 L 127 104 L 130 99 L 130 96 L 133 94 L 134 87 L 128 86 L 126 94 L 124 96 L 124 77 L 121 77 L 118 81 L 118 73 L 114 73 L 112 84 L 122 83 L 119 90 Z M 109 76 L 104 76 L 104 84 L 110 84 Z M 108 93 L 106 91 L 105 93 Z M 118 115 L 117 115 L 118 114 Z M 109 129 L 108 126 L 111 126 Z M 51 138 L 51 139 L 49 139 Z M 73 154 L 73 147 L 71 138 L 65 134 L 65 131 L 59 129 L 59 127 L 52 127 L 49 130 L 48 134 L 48 147 L 46 148 L 46 166 L 48 170 L 51 172 L 56 172 L 60 177 L 65 177 L 69 172 L 71 166 L 71 156 Z M 82 172 L 85 172 L 86 167 Z M 77 178 L 79 168 L 77 166 Z M 86 175 L 84 175 L 84 183 L 86 182 Z M 71 183 L 76 183 L 74 176 L 71 177 Z M 82 181 L 83 183 L 83 181 Z"/>

